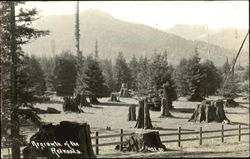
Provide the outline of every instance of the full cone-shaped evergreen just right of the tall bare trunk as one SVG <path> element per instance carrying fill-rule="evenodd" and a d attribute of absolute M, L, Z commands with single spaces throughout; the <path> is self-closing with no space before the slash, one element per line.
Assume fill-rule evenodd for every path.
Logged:
<path fill-rule="evenodd" d="M 104 85 L 105 80 L 98 61 L 88 56 L 79 75 L 75 92 L 89 97 L 92 104 L 99 103 L 97 98 L 107 94 L 107 87 Z"/>

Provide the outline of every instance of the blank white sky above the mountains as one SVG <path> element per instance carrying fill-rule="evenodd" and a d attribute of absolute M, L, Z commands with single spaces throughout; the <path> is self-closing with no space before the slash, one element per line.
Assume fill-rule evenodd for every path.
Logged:
<path fill-rule="evenodd" d="M 209 28 L 249 28 L 248 1 L 81 1 L 80 12 L 100 9 L 113 17 L 159 29 L 175 24 L 201 24 Z M 42 16 L 74 14 L 76 2 L 26 2 Z"/>

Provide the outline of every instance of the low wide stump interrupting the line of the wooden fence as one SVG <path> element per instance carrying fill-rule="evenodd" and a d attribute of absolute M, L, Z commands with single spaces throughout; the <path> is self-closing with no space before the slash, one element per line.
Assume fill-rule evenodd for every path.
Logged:
<path fill-rule="evenodd" d="M 126 144 L 123 144 L 122 149 L 124 151 L 136 151 L 136 152 L 163 152 L 167 148 L 162 144 L 158 131 L 147 133 L 135 133 L 132 136 L 125 139 Z M 120 145 L 116 146 L 118 149 Z"/>

